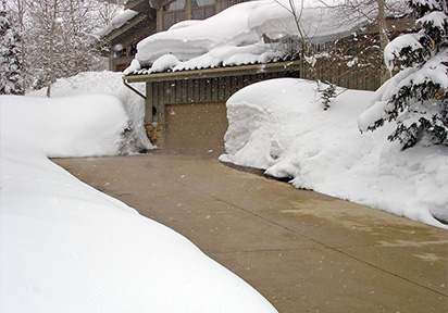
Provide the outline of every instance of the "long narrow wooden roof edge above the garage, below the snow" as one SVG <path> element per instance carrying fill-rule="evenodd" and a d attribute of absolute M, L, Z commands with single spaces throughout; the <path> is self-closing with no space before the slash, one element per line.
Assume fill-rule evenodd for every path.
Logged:
<path fill-rule="evenodd" d="M 144 75 L 126 75 L 126 83 L 152 83 L 184 79 L 204 79 L 240 75 L 254 75 L 264 73 L 295 72 L 300 70 L 300 61 L 286 61 L 266 64 L 250 64 L 239 66 L 215 67 L 194 71 L 179 71 L 169 73 L 154 73 Z"/>

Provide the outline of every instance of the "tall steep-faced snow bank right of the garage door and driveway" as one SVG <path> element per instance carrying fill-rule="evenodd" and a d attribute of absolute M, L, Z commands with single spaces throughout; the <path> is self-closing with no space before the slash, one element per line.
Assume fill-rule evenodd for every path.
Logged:
<path fill-rule="evenodd" d="M 448 148 L 402 152 L 387 141 L 395 125 L 360 134 L 357 118 L 374 92 L 347 90 L 327 111 L 316 85 L 274 79 L 227 101 L 226 154 L 220 159 L 290 177 L 299 188 L 448 228 Z"/>

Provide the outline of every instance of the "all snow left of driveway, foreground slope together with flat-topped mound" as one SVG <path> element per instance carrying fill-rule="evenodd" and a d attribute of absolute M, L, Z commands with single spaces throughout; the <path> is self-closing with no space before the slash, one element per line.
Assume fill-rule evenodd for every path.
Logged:
<path fill-rule="evenodd" d="M 0 110 L 1 312 L 276 312 L 186 238 L 47 159 L 113 152 L 127 125 L 117 98 L 4 96 Z"/>

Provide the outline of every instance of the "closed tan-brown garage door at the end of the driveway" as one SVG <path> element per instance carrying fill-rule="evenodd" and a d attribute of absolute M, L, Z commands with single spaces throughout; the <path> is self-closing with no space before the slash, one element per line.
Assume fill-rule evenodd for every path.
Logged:
<path fill-rule="evenodd" d="M 167 104 L 166 151 L 216 158 L 227 127 L 225 102 Z"/>

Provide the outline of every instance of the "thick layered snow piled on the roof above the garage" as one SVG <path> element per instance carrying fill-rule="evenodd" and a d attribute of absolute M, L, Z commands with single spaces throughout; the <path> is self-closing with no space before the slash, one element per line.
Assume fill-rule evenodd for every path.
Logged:
<path fill-rule="evenodd" d="M 334 4 L 334 1 L 329 4 Z M 300 11 L 302 1 L 296 0 Z M 267 63 L 286 57 L 278 43 L 271 39 L 297 36 L 294 16 L 284 7 L 287 1 L 262 0 L 235 4 L 204 21 L 184 21 L 166 32 L 149 36 L 137 45 L 136 60 L 140 66 L 130 66 L 125 74 L 151 74 L 163 71 L 187 71 L 216 66 Z M 289 4 L 287 4 L 289 5 Z M 299 12 L 300 13 L 300 12 Z M 304 1 L 301 27 L 311 42 L 324 42 L 351 34 L 366 23 L 358 18 L 343 23 L 337 10 L 312 0 Z M 166 61 L 166 57 L 171 60 Z M 178 61 L 178 62 L 177 62 Z M 160 66 L 159 63 L 166 66 Z M 157 66 L 153 64 L 158 63 Z"/>

